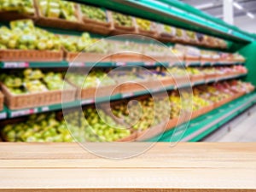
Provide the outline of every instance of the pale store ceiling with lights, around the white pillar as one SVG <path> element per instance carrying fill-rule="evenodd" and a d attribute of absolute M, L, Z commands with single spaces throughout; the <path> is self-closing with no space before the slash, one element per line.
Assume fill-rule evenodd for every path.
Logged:
<path fill-rule="evenodd" d="M 181 0 L 183 3 L 189 3 L 190 5 L 207 12 L 218 18 L 223 17 L 223 0 Z M 227 0 L 225 0 L 227 1 Z M 235 18 L 247 15 L 247 12 L 251 12 L 256 15 L 256 0 L 235 0 L 239 3 L 243 9 L 234 9 Z M 256 16 L 255 16 L 256 17 Z"/>

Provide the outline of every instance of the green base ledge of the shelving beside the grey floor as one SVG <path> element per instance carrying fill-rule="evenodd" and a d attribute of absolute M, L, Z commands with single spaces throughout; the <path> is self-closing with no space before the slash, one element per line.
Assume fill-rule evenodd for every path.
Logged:
<path fill-rule="evenodd" d="M 212 131 L 218 129 L 221 125 L 224 125 L 230 119 L 235 118 L 241 112 L 250 108 L 256 103 L 256 92 L 241 96 L 240 98 L 224 104 L 220 108 L 216 108 L 209 113 L 201 115 L 196 119 L 192 119 L 189 122 L 189 127 L 185 131 L 181 141 L 182 142 L 197 142 L 203 137 L 206 137 Z M 160 142 L 170 142 L 173 130 L 166 131 L 162 137 L 160 137 Z M 159 139 L 159 137 L 154 137 L 148 141 L 153 142 Z M 177 142 L 177 141 L 172 141 Z"/>

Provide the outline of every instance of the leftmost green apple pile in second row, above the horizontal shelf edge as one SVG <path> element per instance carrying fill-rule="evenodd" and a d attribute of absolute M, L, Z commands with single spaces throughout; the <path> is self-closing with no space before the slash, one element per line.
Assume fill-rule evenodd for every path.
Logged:
<path fill-rule="evenodd" d="M 0 49 L 60 50 L 61 41 L 51 32 L 33 25 L 32 20 L 10 22 L 10 29 L 0 27 Z"/>

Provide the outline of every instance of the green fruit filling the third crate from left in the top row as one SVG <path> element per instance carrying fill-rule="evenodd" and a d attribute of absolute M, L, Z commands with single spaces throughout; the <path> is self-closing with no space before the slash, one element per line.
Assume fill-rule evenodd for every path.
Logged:
<path fill-rule="evenodd" d="M 82 14 L 90 20 L 97 20 L 102 22 L 107 21 L 106 12 L 101 8 L 96 8 L 96 7 L 84 5 L 84 4 L 81 4 L 80 8 L 81 8 Z"/>

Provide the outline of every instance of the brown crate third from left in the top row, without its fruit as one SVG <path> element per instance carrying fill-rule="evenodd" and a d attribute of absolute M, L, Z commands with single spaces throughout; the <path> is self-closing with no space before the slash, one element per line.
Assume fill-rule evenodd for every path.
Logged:
<path fill-rule="evenodd" d="M 78 9 L 82 20 L 82 25 L 79 25 L 79 30 L 96 32 L 103 35 L 108 35 L 112 31 L 110 13 L 106 9 L 104 9 L 106 21 L 90 19 L 88 16 L 82 13 L 81 5 L 79 5 Z"/>

